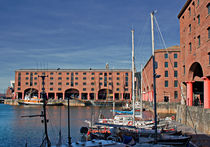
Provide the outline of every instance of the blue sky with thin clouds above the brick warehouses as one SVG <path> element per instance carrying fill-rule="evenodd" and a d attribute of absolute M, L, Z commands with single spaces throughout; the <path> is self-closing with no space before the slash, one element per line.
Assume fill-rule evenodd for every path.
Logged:
<path fill-rule="evenodd" d="M 166 47 L 179 45 L 177 15 L 186 0 L 0 0 L 0 92 L 16 69 L 131 68 L 151 56 L 150 13 Z M 157 29 L 156 29 L 157 30 Z M 155 36 L 156 32 L 155 32 Z M 155 37 L 155 48 L 163 48 Z"/>

